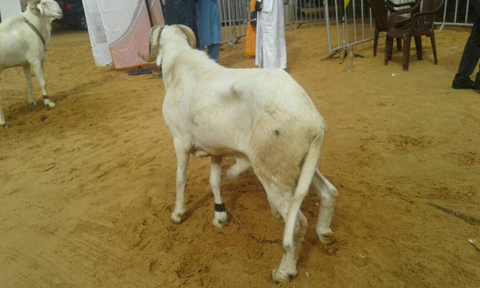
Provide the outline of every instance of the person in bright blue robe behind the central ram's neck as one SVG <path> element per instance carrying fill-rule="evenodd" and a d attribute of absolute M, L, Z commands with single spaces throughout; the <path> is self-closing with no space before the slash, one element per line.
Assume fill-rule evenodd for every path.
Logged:
<path fill-rule="evenodd" d="M 218 62 L 221 42 L 220 9 L 217 0 L 198 0 L 196 24 L 200 49 L 208 48 L 210 58 Z"/>

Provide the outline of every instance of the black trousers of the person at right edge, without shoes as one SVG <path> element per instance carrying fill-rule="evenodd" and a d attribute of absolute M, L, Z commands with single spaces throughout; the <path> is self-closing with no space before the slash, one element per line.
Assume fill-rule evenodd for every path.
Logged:
<path fill-rule="evenodd" d="M 456 78 L 466 78 L 470 76 L 477 67 L 480 60 L 480 0 L 472 0 L 470 3 L 474 11 L 474 23 L 470 37 L 463 49 L 460 66 L 456 73 Z"/>

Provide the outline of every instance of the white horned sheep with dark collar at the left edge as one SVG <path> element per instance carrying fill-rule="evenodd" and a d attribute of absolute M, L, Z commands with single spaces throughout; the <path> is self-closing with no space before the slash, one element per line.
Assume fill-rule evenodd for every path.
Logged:
<path fill-rule="evenodd" d="M 28 87 L 28 103 L 32 105 L 36 103 L 33 100 L 30 67 L 37 75 L 44 104 L 49 108 L 55 106 L 48 98 L 42 68 L 46 46 L 50 44 L 51 22 L 62 17 L 62 9 L 54 0 L 31 0 L 21 17 L 12 17 L 0 24 L 0 75 L 5 69 L 22 66 Z M 1 105 L 0 125 L 5 125 Z"/>

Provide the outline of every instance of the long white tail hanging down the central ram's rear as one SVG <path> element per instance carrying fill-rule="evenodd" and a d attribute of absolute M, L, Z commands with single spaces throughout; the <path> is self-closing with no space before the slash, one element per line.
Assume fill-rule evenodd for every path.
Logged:
<path fill-rule="evenodd" d="M 313 174 L 317 168 L 318 158 L 320 157 L 320 151 L 322 149 L 323 136 L 324 133 L 320 133 L 315 137 L 305 155 L 302 168 L 300 169 L 300 177 L 298 179 L 297 187 L 290 201 L 290 207 L 288 208 L 287 223 L 285 224 L 283 237 L 284 249 L 293 247 L 295 220 L 297 219 L 298 211 L 300 211 L 303 199 L 307 196 L 310 184 L 312 183 Z"/>

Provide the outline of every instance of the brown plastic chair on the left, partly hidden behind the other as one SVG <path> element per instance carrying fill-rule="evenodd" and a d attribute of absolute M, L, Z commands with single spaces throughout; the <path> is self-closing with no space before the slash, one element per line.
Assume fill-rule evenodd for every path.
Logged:
<path fill-rule="evenodd" d="M 377 55 L 377 46 L 378 46 L 378 37 L 380 32 L 388 31 L 388 14 L 393 13 L 395 8 L 409 7 L 412 8 L 415 6 L 415 2 L 407 2 L 401 4 L 395 4 L 390 0 L 367 0 L 368 5 L 372 8 L 373 15 L 375 15 L 375 36 L 373 39 L 373 56 Z M 406 8 L 408 9 L 408 8 Z M 406 25 L 410 22 L 409 17 L 398 17 L 396 27 Z M 402 40 L 397 39 L 397 50 L 402 50 Z"/>

